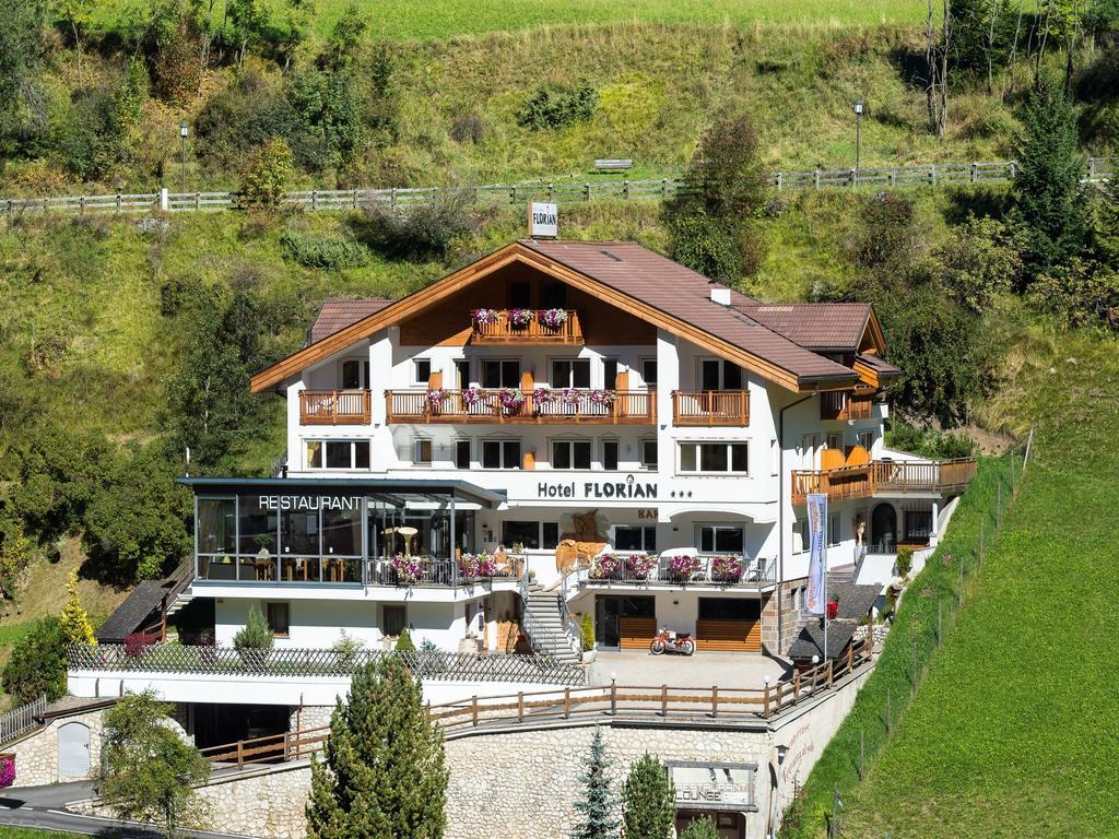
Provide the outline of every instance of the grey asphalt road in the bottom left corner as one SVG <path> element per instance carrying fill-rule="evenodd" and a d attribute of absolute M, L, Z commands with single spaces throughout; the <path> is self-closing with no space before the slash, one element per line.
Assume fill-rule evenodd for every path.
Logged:
<path fill-rule="evenodd" d="M 93 784 L 87 781 L 49 786 L 15 788 L 4 792 L 6 794 L 0 798 L 0 829 L 10 824 L 86 836 L 119 837 L 120 839 L 159 839 L 162 836 L 151 828 L 134 822 L 121 822 L 66 812 L 66 802 L 93 796 Z M 241 839 L 241 836 L 235 833 L 184 831 L 184 835 L 195 837 L 195 839 L 229 839 L 231 837 Z"/>

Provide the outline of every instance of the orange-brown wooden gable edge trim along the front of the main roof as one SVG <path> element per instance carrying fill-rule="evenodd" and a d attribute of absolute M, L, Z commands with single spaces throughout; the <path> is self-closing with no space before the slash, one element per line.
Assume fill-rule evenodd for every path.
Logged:
<path fill-rule="evenodd" d="M 458 293 L 463 287 L 498 271 L 513 263 L 521 263 L 528 267 L 540 271 L 556 280 L 561 280 L 573 287 L 592 294 L 604 303 L 613 305 L 623 311 L 631 312 L 642 320 L 664 329 L 666 332 L 684 338 L 685 340 L 713 352 L 721 358 L 733 361 L 740 367 L 751 370 L 762 378 L 773 381 L 788 390 L 794 393 L 816 393 L 818 390 L 841 390 L 858 384 L 859 376 L 852 371 L 847 376 L 800 376 L 794 371 L 782 368 L 769 359 L 762 358 L 752 352 L 747 352 L 741 347 L 723 340 L 712 333 L 699 329 L 679 318 L 676 318 L 656 307 L 649 305 L 641 300 L 624 292 L 612 289 L 574 268 L 571 268 L 555 260 L 525 247 L 519 242 L 511 243 L 495 251 L 488 256 L 483 256 L 470 265 L 455 271 L 442 280 L 438 280 L 431 285 L 414 292 L 406 298 L 385 307 L 378 312 L 370 314 L 335 334 L 325 338 L 317 343 L 309 345 L 276 364 L 267 367 L 250 380 L 253 393 L 261 393 L 274 387 L 294 376 L 300 375 L 305 368 L 318 364 L 347 347 L 360 341 L 387 327 L 397 324 L 408 318 L 419 314 L 431 305 L 439 303 L 446 298 Z"/>

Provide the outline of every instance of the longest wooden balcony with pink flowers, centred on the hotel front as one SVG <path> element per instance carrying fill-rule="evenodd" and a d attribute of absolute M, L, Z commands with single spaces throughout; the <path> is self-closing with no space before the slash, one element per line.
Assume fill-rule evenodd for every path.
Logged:
<path fill-rule="evenodd" d="M 612 390 L 605 402 L 596 393 L 606 392 L 581 390 L 564 398 L 555 390 L 542 398 L 534 390 L 386 390 L 385 413 L 389 423 L 651 425 L 657 421 L 655 390 Z"/>

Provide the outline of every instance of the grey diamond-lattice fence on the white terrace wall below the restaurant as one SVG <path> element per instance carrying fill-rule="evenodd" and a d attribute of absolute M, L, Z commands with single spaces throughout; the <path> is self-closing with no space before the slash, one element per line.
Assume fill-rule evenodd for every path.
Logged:
<path fill-rule="evenodd" d="M 583 685 L 583 668 L 546 656 L 477 656 L 460 652 L 352 652 L 316 649 L 237 650 L 232 647 L 152 644 L 126 650 L 123 644 L 72 645 L 70 670 L 94 672 L 205 673 L 253 677 L 342 677 L 370 661 L 402 659 L 417 677 L 431 681 L 536 682 Z"/>

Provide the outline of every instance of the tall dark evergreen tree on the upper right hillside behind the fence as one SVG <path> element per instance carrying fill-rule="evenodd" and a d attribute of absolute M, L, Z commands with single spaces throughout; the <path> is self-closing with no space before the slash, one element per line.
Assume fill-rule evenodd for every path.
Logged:
<path fill-rule="evenodd" d="M 1076 153 L 1076 114 L 1060 85 L 1042 79 L 1022 113 L 1014 178 L 1025 282 L 1075 256 L 1084 246 L 1087 213 Z"/>

